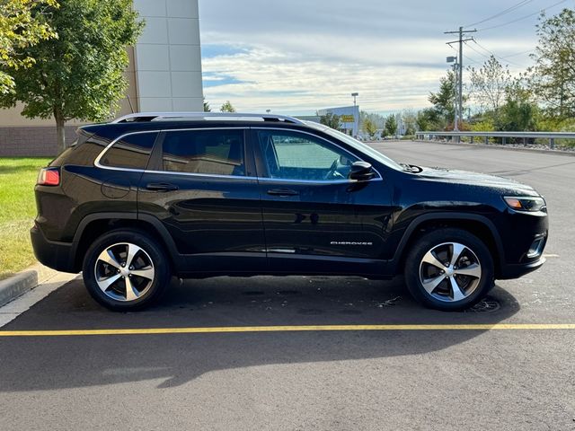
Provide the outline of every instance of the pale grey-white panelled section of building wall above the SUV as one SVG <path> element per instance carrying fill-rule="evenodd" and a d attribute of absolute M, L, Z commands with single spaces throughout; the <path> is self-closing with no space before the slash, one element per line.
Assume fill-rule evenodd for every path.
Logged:
<path fill-rule="evenodd" d="M 203 110 L 198 0 L 134 0 L 146 21 L 137 40 L 140 111 Z"/>

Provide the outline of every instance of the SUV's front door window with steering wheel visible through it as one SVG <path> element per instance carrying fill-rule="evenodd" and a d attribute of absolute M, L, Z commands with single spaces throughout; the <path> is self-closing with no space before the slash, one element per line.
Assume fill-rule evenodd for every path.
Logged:
<path fill-rule="evenodd" d="M 270 178 L 346 180 L 358 158 L 315 136 L 283 130 L 259 130 L 258 138 Z"/>

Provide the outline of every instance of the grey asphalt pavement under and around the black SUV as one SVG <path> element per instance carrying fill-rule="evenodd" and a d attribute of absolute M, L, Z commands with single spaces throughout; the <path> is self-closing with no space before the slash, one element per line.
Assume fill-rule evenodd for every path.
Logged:
<path fill-rule="evenodd" d="M 547 263 L 455 313 L 421 308 L 400 277 L 174 281 L 137 313 L 105 311 L 75 280 L 0 329 L 79 331 L 0 337 L 0 429 L 575 429 L 575 157 L 374 146 L 535 186 L 551 216 Z M 239 329 L 147 333 L 212 327 Z M 90 330 L 109 331 L 80 335 Z"/>

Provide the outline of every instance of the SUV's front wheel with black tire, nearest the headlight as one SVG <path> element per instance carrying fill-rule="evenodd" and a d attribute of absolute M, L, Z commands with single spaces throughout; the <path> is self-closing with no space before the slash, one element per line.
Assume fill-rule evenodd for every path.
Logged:
<path fill-rule="evenodd" d="M 472 233 L 438 229 L 421 236 L 408 252 L 405 283 L 426 307 L 461 311 L 480 302 L 491 290 L 493 258 L 485 243 Z"/>

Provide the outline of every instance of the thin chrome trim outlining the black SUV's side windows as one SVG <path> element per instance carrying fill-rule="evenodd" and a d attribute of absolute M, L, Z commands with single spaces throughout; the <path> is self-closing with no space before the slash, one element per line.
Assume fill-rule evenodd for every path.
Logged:
<path fill-rule="evenodd" d="M 155 170 L 146 170 L 146 169 L 134 169 L 134 168 L 119 168 L 117 166 L 105 166 L 101 163 L 102 157 L 106 152 L 111 148 L 112 145 L 116 144 L 119 140 L 123 139 L 126 136 L 131 135 L 141 135 L 144 133 L 163 133 L 163 132 L 178 132 L 178 131 L 190 131 L 190 130 L 245 130 L 245 129 L 252 129 L 253 127 L 240 127 L 240 128 L 165 128 L 160 130 L 141 130 L 137 132 L 128 132 L 123 135 L 118 136 L 114 140 L 111 141 L 109 145 L 102 150 L 100 154 L 96 157 L 93 164 L 96 168 L 100 169 L 107 169 L 110 171 L 123 171 L 123 172 L 141 172 L 141 173 L 161 173 L 161 174 L 168 174 L 168 175 L 186 175 L 190 177 L 199 177 L 199 178 L 222 178 L 222 179 L 234 179 L 234 180 L 258 180 L 258 181 L 268 181 L 268 182 L 293 182 L 293 183 L 305 183 L 305 184 L 355 184 L 358 182 L 370 182 L 370 181 L 382 181 L 382 175 L 373 168 L 374 171 L 379 176 L 378 178 L 372 178 L 371 180 L 366 181 L 358 181 L 358 180 L 294 180 L 294 179 L 282 179 L 282 178 L 269 178 L 269 177 L 248 177 L 248 176 L 240 176 L 240 175 L 220 175 L 216 173 L 192 173 L 192 172 L 174 172 L 174 171 L 155 171 Z M 255 128 L 258 130 L 283 130 L 283 131 L 290 131 L 290 132 L 297 132 L 303 133 L 305 135 L 314 136 L 318 139 L 322 139 L 323 141 L 327 142 L 328 144 L 335 145 L 341 150 L 345 151 L 348 154 L 353 155 L 354 157 L 358 158 L 356 154 L 351 153 L 346 148 L 341 147 L 341 145 L 337 145 L 330 141 L 329 139 L 325 139 L 322 136 L 314 135 L 313 133 L 305 132 L 303 130 L 292 129 L 292 128 Z M 361 160 L 361 159 L 359 159 Z"/>

